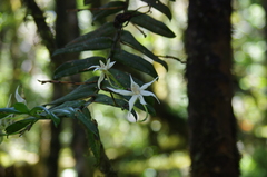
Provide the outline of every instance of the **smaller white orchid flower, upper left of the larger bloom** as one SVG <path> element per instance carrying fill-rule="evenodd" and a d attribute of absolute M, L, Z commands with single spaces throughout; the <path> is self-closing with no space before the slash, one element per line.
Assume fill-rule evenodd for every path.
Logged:
<path fill-rule="evenodd" d="M 96 68 L 95 70 L 93 70 L 93 72 L 95 71 L 97 71 L 97 70 L 100 70 L 101 71 L 101 75 L 100 75 L 100 77 L 99 77 L 99 79 L 98 79 L 98 88 L 100 89 L 100 83 L 103 81 L 103 79 L 105 79 L 105 76 L 106 77 L 108 77 L 108 75 L 110 75 L 109 73 L 109 69 L 115 65 L 115 62 L 116 61 L 113 61 L 113 62 L 110 62 L 110 59 L 108 59 L 107 60 L 107 63 L 105 65 L 101 60 L 99 61 L 99 66 L 91 66 L 91 67 L 89 67 L 88 69 L 91 69 L 91 68 Z"/>

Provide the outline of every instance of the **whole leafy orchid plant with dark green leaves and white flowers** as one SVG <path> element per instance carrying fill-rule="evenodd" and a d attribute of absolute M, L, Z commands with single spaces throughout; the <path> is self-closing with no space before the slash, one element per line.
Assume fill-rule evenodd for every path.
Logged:
<path fill-rule="evenodd" d="M 155 109 L 152 106 L 154 99 L 146 98 L 147 96 L 154 96 L 154 94 L 150 94 L 150 91 L 144 91 L 145 94 L 141 95 L 140 90 L 138 90 L 139 86 L 141 86 L 141 88 L 145 87 L 144 89 L 146 89 L 151 82 L 149 85 L 144 83 L 144 81 L 135 78 L 134 75 L 116 68 L 117 63 L 121 63 L 126 66 L 129 71 L 135 69 L 136 71 L 147 73 L 152 78 L 158 77 L 152 62 L 146 60 L 144 56 L 137 55 L 134 51 L 128 51 L 125 48 L 122 49 L 120 45 L 125 45 L 149 57 L 152 61 L 156 61 L 168 69 L 168 66 L 164 60 L 159 59 L 149 49 L 141 45 L 130 31 L 123 30 L 123 28 L 131 22 L 167 38 L 176 37 L 175 33 L 164 22 L 158 21 L 147 14 L 152 8 L 155 8 L 166 14 L 166 17 L 170 20 L 171 13 L 167 6 L 158 0 L 144 1 L 148 4 L 148 11 L 145 13 L 139 12 L 139 9 L 135 11 L 127 10 L 127 1 L 111 1 L 102 7 L 99 7 L 99 10 L 92 11 L 92 22 L 111 14 L 113 14 L 113 21 L 106 22 L 98 29 L 70 41 L 65 48 L 57 49 L 53 52 L 53 56 L 88 50 L 93 51 L 109 49 L 108 55 L 106 57 L 89 56 L 86 59 L 73 59 L 73 61 L 68 61 L 55 70 L 53 79 L 88 72 L 91 71 L 91 68 L 95 68 L 95 71 L 100 71 L 100 76 L 89 78 L 71 92 L 43 106 L 36 106 L 32 109 L 29 109 L 26 102 L 16 102 L 10 108 L 1 108 L 0 118 L 11 118 L 13 120 L 4 128 L 4 135 L 22 135 L 24 131 L 30 130 L 30 128 L 40 119 L 51 120 L 55 126 L 58 126 L 60 124 L 60 119 L 62 118 L 77 119 L 85 127 L 88 137 L 88 144 L 96 157 L 97 164 L 99 164 L 101 159 L 101 141 L 97 122 L 91 118 L 88 109 L 89 105 L 103 104 L 120 108 L 122 110 L 130 110 L 136 120 L 138 119 L 138 116 L 137 112 L 131 109 L 134 106 L 155 115 Z M 85 0 L 85 4 L 91 2 L 92 1 L 90 0 Z M 123 10 L 123 12 L 117 14 L 121 10 Z M 112 62 L 109 62 L 110 60 Z M 113 65 L 115 67 L 111 68 Z M 130 76 L 137 83 L 132 83 Z M 44 83 L 46 81 L 41 82 Z M 137 85 L 139 86 L 137 87 Z M 110 88 L 122 91 L 121 94 L 119 94 L 119 91 L 115 94 L 110 90 Z M 145 97 L 144 100 L 142 96 Z M 137 101 L 132 102 L 132 100 Z"/>

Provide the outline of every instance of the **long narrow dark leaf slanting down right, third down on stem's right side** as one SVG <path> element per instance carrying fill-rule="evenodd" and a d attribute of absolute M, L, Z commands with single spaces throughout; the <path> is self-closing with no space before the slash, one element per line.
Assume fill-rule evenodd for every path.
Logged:
<path fill-rule="evenodd" d="M 131 46 L 136 50 L 142 52 L 147 57 L 151 58 L 156 62 L 161 63 L 166 70 L 168 70 L 168 66 L 164 60 L 160 60 L 157 56 L 155 56 L 151 51 L 149 51 L 145 46 L 142 46 L 129 31 L 122 31 L 121 33 L 121 41 L 126 42 L 127 45 Z"/>

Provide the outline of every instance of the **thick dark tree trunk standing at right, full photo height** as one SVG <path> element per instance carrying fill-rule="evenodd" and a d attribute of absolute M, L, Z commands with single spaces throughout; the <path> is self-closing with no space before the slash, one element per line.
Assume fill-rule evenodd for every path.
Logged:
<path fill-rule="evenodd" d="M 186 77 L 191 177 L 237 177 L 233 114 L 231 1 L 189 0 Z"/>

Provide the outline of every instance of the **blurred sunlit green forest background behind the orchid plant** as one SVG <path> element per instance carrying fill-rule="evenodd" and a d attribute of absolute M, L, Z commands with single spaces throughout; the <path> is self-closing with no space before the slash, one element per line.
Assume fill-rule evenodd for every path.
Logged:
<path fill-rule="evenodd" d="M 141 2 L 134 1 L 139 4 Z M 97 28 L 91 24 L 90 11 L 83 0 L 36 0 L 44 13 L 50 29 L 65 36 L 57 39 L 58 47 Z M 105 0 L 97 1 L 105 3 Z M 164 20 L 176 33 L 166 39 L 147 32 L 147 38 L 136 31 L 136 38 L 159 55 L 186 59 L 184 31 L 187 28 L 187 0 L 169 4 L 172 20 L 154 10 L 154 17 Z M 243 177 L 267 176 L 267 2 L 265 0 L 235 0 L 233 3 L 233 49 L 235 96 L 233 107 L 238 119 L 238 148 L 241 154 Z M 66 12 L 66 10 L 68 10 Z M 72 10 L 71 10 L 72 9 Z M 62 18 L 65 17 L 65 18 Z M 61 29 L 56 28 L 57 18 L 62 18 Z M 65 20 L 65 21 L 63 21 Z M 108 19 L 107 19 L 108 20 Z M 59 27 L 60 21 L 57 22 Z M 127 27 L 128 28 L 128 27 Z M 130 27 L 129 27 L 130 28 Z M 135 30 L 135 29 L 132 29 Z M 91 51 L 90 51 L 91 52 Z M 88 52 L 80 55 L 85 56 Z M 78 56 L 76 56 L 78 59 Z M 72 56 L 73 58 L 73 56 Z M 82 58 L 82 57 L 81 57 Z M 63 61 L 68 60 L 63 59 Z M 160 99 L 157 117 L 145 122 L 131 122 L 126 114 L 108 106 L 91 107 L 106 153 L 119 176 L 127 177 L 186 177 L 189 174 L 187 105 L 185 65 L 166 59 L 167 72 L 155 66 L 160 79 L 154 91 Z M 52 61 L 48 49 L 37 32 L 33 18 L 20 0 L 0 1 L 0 107 L 7 106 L 10 95 L 18 86 L 23 88 L 28 106 L 49 102 L 53 87 L 69 92 L 71 85 L 41 85 L 38 80 L 51 79 L 59 60 Z M 70 80 L 86 80 L 88 75 Z M 14 99 L 12 99 L 14 101 Z M 51 148 L 53 147 L 53 148 Z M 101 176 L 95 169 L 93 159 L 87 153 L 86 139 L 70 119 L 65 119 L 58 129 L 48 121 L 40 121 L 22 137 L 4 138 L 0 146 L 0 174 L 7 169 L 18 177 L 81 177 L 87 174 Z M 55 173 L 58 171 L 58 173 Z M 82 175 L 83 174 L 83 175 Z M 13 175 L 14 176 L 14 175 Z"/>

